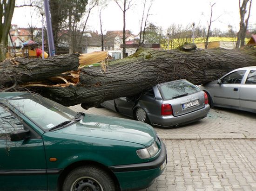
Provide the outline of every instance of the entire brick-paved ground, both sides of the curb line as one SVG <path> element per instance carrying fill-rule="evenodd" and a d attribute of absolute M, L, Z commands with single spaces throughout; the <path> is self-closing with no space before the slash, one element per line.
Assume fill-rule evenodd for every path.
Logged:
<path fill-rule="evenodd" d="M 128 118 L 105 108 L 71 108 Z M 216 108 L 193 124 L 155 130 L 167 146 L 168 164 L 143 191 L 256 191 L 255 114 Z"/>

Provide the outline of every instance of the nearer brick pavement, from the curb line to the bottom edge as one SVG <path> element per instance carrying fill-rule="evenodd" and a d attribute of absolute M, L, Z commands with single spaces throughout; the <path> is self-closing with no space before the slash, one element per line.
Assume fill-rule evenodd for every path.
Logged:
<path fill-rule="evenodd" d="M 256 140 L 164 140 L 166 170 L 142 191 L 256 191 Z"/>

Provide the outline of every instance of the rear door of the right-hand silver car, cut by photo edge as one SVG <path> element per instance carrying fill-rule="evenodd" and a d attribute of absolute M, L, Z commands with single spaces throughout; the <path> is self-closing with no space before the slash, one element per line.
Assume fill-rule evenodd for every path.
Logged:
<path fill-rule="evenodd" d="M 256 70 L 250 70 L 240 90 L 240 106 L 256 111 Z"/>

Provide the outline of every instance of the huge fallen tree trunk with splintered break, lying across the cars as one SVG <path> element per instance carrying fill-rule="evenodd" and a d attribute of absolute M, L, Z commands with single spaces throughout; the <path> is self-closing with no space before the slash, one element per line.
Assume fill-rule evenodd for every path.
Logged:
<path fill-rule="evenodd" d="M 63 105 L 81 103 L 83 108 L 89 108 L 106 100 L 135 95 L 158 83 L 187 79 L 195 84 L 203 84 L 218 79 L 230 70 L 256 65 L 256 49 L 251 47 L 192 51 L 140 49 L 130 57 L 109 64 L 106 72 L 101 70 L 101 67 L 86 67 L 79 70 L 79 55 L 60 57 L 65 60 L 64 63 L 57 63 L 61 69 L 54 68 L 55 59 L 58 60 L 59 57 L 51 58 L 47 64 L 46 61 L 37 59 L 35 62 L 38 64 L 46 64 L 39 73 L 34 73 L 36 68 L 31 69 L 28 61 L 17 60 L 24 63 L 22 68 L 29 71 L 29 75 L 23 79 L 20 76 L 26 75 L 20 70 L 17 74 L 13 69 L 16 72 L 15 77 L 11 68 L 19 68 L 20 64 L 9 66 L 8 74 L 12 77 L 0 79 L 0 84 L 10 86 L 15 79 L 19 85 Z M 7 64 L 6 62 L 0 65 L 3 66 Z M 64 74 L 61 64 L 68 66 Z M 53 69 L 55 74 L 48 72 Z M 0 67 L 0 74 L 1 70 L 3 67 Z M 70 70 L 74 71 L 69 72 Z M 45 77 L 38 77 L 44 74 Z"/>

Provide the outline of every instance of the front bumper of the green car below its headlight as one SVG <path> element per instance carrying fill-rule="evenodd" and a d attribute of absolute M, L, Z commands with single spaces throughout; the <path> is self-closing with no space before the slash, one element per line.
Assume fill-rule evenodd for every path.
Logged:
<path fill-rule="evenodd" d="M 161 140 L 161 153 L 157 159 L 140 164 L 111 166 L 109 168 L 115 173 L 122 191 L 139 190 L 148 188 L 153 184 L 155 178 L 164 171 L 166 163 L 167 152 Z"/>

